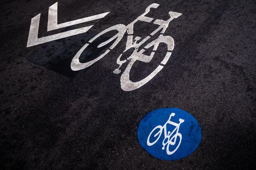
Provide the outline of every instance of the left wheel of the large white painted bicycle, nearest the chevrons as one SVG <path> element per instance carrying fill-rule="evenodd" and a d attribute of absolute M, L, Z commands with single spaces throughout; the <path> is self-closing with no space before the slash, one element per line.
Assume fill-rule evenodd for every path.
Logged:
<path fill-rule="evenodd" d="M 93 65 L 94 63 L 96 63 L 98 60 L 100 60 L 102 57 L 104 57 L 110 50 L 112 50 L 114 47 L 116 47 L 116 45 L 119 43 L 119 41 L 122 39 L 124 33 L 125 33 L 125 30 L 126 30 L 126 26 L 123 25 L 123 24 L 118 24 L 118 25 L 114 25 L 104 31 L 102 31 L 101 33 L 97 34 L 96 36 L 94 36 L 88 43 L 86 43 L 78 52 L 77 54 L 74 56 L 74 58 L 72 59 L 72 62 L 71 62 L 71 69 L 73 71 L 77 71 L 77 70 L 80 70 L 80 69 L 84 69 L 84 68 L 87 68 L 91 65 Z M 110 42 L 112 42 L 113 40 L 114 43 L 110 46 L 110 48 L 108 50 L 106 50 L 104 53 L 102 53 L 101 55 L 99 55 L 97 58 L 91 60 L 91 61 L 88 61 L 88 62 L 85 62 L 85 63 L 81 63 L 79 61 L 79 57 L 81 56 L 81 53 L 89 46 L 89 44 L 93 43 L 99 36 L 105 34 L 105 33 L 108 33 L 110 31 L 118 31 L 118 33 L 116 35 L 114 35 L 113 37 L 111 37 L 110 39 L 100 43 L 97 48 L 100 48 L 100 47 L 103 47 L 103 46 L 106 46 L 107 44 L 109 44 Z M 87 56 L 88 57 L 88 56 Z"/>

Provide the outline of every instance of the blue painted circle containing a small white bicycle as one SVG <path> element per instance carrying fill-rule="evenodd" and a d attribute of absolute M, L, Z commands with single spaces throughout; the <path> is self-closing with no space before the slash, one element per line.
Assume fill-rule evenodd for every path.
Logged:
<path fill-rule="evenodd" d="M 197 120 L 179 108 L 156 109 L 148 113 L 140 120 L 137 133 L 142 148 L 163 160 L 190 155 L 202 139 Z"/>

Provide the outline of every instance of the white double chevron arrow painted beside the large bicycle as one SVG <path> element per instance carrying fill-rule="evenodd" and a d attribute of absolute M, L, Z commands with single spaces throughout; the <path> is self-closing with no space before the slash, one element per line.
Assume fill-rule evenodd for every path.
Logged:
<path fill-rule="evenodd" d="M 49 7 L 47 31 L 57 30 L 59 28 L 64 28 L 64 27 L 68 27 L 71 25 L 76 25 L 76 24 L 100 19 L 100 18 L 105 17 L 108 13 L 110 13 L 110 12 L 98 14 L 98 15 L 91 16 L 91 17 L 84 17 L 81 19 L 58 24 L 58 2 L 56 2 L 55 4 L 53 4 L 52 6 Z M 39 21 L 40 21 L 40 14 L 31 19 L 27 47 L 39 45 L 42 43 L 54 41 L 54 40 L 69 37 L 69 36 L 73 36 L 76 34 L 82 34 L 82 33 L 87 32 L 90 28 L 93 27 L 93 25 L 90 25 L 87 27 L 82 27 L 82 28 L 66 31 L 66 32 L 59 33 L 59 34 L 53 34 L 53 35 L 38 38 Z"/>

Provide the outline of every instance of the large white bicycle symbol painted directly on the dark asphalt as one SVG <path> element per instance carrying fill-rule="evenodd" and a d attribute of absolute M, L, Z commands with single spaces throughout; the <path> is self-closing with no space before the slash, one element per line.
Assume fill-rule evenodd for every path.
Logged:
<path fill-rule="evenodd" d="M 164 65 L 167 63 L 167 61 L 169 60 L 169 58 L 172 54 L 171 51 L 174 49 L 174 39 L 171 36 L 165 36 L 163 34 L 165 33 L 167 27 L 169 26 L 170 21 L 173 20 L 174 18 L 177 18 L 177 17 L 182 15 L 182 14 L 176 13 L 176 12 L 169 12 L 170 18 L 168 20 L 156 19 L 153 22 L 153 24 L 156 24 L 159 27 L 155 31 L 153 31 L 149 36 L 145 37 L 143 40 L 138 42 L 141 39 L 141 37 L 136 36 L 135 38 L 133 38 L 134 24 L 137 21 L 144 21 L 144 22 L 151 23 L 154 20 L 154 18 L 146 17 L 145 15 L 149 13 L 150 8 L 157 8 L 158 6 L 159 6 L 159 4 L 157 4 L 157 3 L 153 3 L 153 4 L 149 5 L 142 15 L 140 15 L 137 19 L 135 19 L 133 22 L 131 22 L 127 26 L 125 26 L 123 24 L 117 24 L 117 25 L 114 25 L 114 26 L 102 31 L 101 33 L 97 34 L 96 36 L 94 36 L 74 56 L 74 58 L 72 59 L 72 62 L 71 62 L 71 69 L 74 70 L 74 71 L 75 70 L 81 70 L 81 69 L 84 69 L 84 68 L 87 68 L 87 67 L 93 65 L 98 60 L 100 60 L 102 57 L 104 57 L 107 53 L 109 53 L 112 49 L 114 49 L 114 47 L 116 47 L 117 44 L 122 39 L 125 32 L 127 32 L 128 37 L 127 37 L 127 41 L 126 41 L 126 48 L 123 52 L 125 52 L 129 49 L 132 49 L 132 48 L 134 49 L 134 51 L 131 54 L 131 56 L 129 56 L 126 60 L 120 60 L 122 54 L 119 55 L 119 57 L 117 59 L 117 64 L 119 65 L 119 67 L 114 70 L 114 73 L 119 74 L 121 72 L 121 70 L 119 68 L 124 63 L 128 62 L 128 65 L 125 68 L 125 70 L 122 73 L 121 78 L 120 78 L 121 88 L 124 91 L 132 91 L 132 90 L 135 90 L 135 89 L 141 87 L 142 85 L 145 85 L 146 83 L 148 83 L 164 67 Z M 97 47 L 97 48 L 103 47 L 103 46 L 105 46 L 105 45 L 107 45 L 107 44 L 109 44 L 109 43 L 111 43 L 115 40 L 113 42 L 113 44 L 110 46 L 110 48 L 108 50 L 106 50 L 103 54 L 99 55 L 97 58 L 95 58 L 91 61 L 85 62 L 85 63 L 80 63 L 79 57 L 80 57 L 81 53 L 91 43 L 93 43 L 93 41 L 96 40 L 99 36 L 101 36 L 102 34 L 108 33 L 110 31 L 118 31 L 118 33 L 116 35 L 114 35 L 113 37 L 111 37 L 110 39 L 108 39 L 107 41 L 104 41 L 104 42 L 100 43 Z M 157 33 L 160 34 L 157 39 L 149 42 L 140 51 L 138 51 L 138 48 L 142 47 L 143 43 L 145 43 L 147 40 L 149 40 L 153 35 L 155 35 Z M 132 82 L 130 80 L 130 70 L 131 70 L 132 66 L 134 65 L 134 63 L 136 61 L 142 61 L 142 62 L 145 62 L 145 63 L 149 63 L 152 60 L 152 58 L 154 57 L 154 54 L 157 51 L 158 45 L 160 43 L 164 43 L 164 44 L 167 45 L 166 55 L 165 55 L 164 59 L 161 61 L 160 65 L 153 72 L 151 72 L 147 77 L 145 77 L 144 79 L 142 79 L 138 82 Z M 150 47 L 153 47 L 153 51 L 151 52 L 151 54 L 150 55 L 143 54 L 143 52 L 146 49 L 149 49 Z"/>

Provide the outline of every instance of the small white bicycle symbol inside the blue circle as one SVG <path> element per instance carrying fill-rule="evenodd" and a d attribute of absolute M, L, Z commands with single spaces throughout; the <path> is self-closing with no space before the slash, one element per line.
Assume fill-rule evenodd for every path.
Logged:
<path fill-rule="evenodd" d="M 177 149 L 181 143 L 181 140 L 182 140 L 182 135 L 178 132 L 178 130 L 179 130 L 180 124 L 184 122 L 184 119 L 179 119 L 179 123 L 175 123 L 175 122 L 171 121 L 171 118 L 174 116 L 175 116 L 175 113 L 171 113 L 169 119 L 166 121 L 166 123 L 163 126 L 158 125 L 150 132 L 148 139 L 147 139 L 148 146 L 152 146 L 155 143 L 157 143 L 158 139 L 160 138 L 160 136 L 162 135 L 162 132 L 164 130 L 164 139 L 162 141 L 162 145 L 163 145 L 162 150 L 164 150 L 165 146 L 167 145 L 166 153 L 168 155 L 171 155 L 177 151 Z M 176 128 L 172 132 L 168 131 L 168 134 L 167 134 L 167 127 L 166 127 L 167 124 L 176 126 Z M 155 135 L 152 137 L 152 134 L 155 134 Z M 170 145 L 173 146 L 176 144 L 177 137 L 179 137 L 177 147 L 174 150 L 170 151 L 169 147 L 170 147 Z M 150 140 L 154 140 L 154 138 L 157 138 L 157 139 L 155 139 L 155 141 L 151 142 Z"/>

